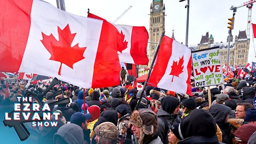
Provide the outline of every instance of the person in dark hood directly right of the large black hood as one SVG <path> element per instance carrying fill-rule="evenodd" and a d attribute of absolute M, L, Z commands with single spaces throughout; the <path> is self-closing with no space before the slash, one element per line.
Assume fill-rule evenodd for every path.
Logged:
<path fill-rule="evenodd" d="M 231 108 L 222 105 L 222 104 L 215 104 L 212 105 L 209 109 L 209 112 L 213 116 L 215 122 L 220 127 L 222 132 L 222 142 L 223 143 L 232 143 L 231 134 L 231 127 L 229 126 L 228 119 L 229 113 Z"/>

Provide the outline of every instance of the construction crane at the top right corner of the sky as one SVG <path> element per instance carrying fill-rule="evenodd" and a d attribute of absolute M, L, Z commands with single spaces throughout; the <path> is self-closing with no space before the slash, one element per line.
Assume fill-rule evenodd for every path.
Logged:
<path fill-rule="evenodd" d="M 246 30 L 246 36 L 247 38 L 250 38 L 250 29 L 251 29 L 251 18 L 252 18 L 252 6 L 253 6 L 253 3 L 256 2 L 256 0 L 251 0 L 251 1 L 248 1 L 248 2 L 245 2 L 239 6 L 234 6 L 232 5 L 230 7 L 230 10 L 233 10 L 233 12 L 235 13 L 236 10 L 240 7 L 243 7 L 243 6 L 246 6 L 248 8 L 248 19 L 247 19 L 247 30 Z"/>

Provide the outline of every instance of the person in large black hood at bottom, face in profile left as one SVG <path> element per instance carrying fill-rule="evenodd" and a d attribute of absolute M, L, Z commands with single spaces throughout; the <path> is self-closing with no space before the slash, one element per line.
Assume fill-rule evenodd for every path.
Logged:
<path fill-rule="evenodd" d="M 182 119 L 181 123 L 170 127 L 170 143 L 219 143 L 216 135 L 216 123 L 209 113 L 204 109 L 194 109 Z"/>

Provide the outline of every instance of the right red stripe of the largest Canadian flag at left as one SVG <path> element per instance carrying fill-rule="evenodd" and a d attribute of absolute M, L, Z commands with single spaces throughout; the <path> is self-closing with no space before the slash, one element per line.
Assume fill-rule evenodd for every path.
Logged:
<path fill-rule="evenodd" d="M 112 33 L 112 34 L 110 34 Z M 109 37 L 111 35 L 111 37 Z M 98 51 L 95 58 L 92 87 L 101 88 L 120 84 L 119 73 L 121 70 L 117 45 L 120 34 L 116 28 L 107 21 L 103 21 L 100 34 Z M 108 63 L 114 63 L 108 67 Z M 110 83 L 111 82 L 111 83 Z"/>

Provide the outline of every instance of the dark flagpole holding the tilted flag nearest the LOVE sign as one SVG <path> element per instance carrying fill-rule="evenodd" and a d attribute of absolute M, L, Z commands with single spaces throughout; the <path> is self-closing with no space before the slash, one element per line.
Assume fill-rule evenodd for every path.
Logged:
<path fill-rule="evenodd" d="M 135 107 L 136 110 L 138 110 L 138 107 L 139 107 L 139 105 L 140 105 L 140 101 L 141 101 L 141 99 L 142 99 L 142 95 L 143 95 L 143 93 L 144 93 L 144 91 L 145 91 L 145 89 L 146 89 L 146 86 L 147 86 L 147 83 L 148 83 L 148 79 L 149 79 L 150 74 L 151 74 L 151 71 L 152 71 L 152 69 L 153 69 L 153 66 L 154 66 L 154 63 L 155 63 L 155 60 L 156 60 L 156 55 L 157 55 L 158 50 L 159 50 L 159 47 L 160 47 L 160 45 L 161 45 L 161 43 L 162 43 L 162 39 L 163 39 L 164 33 L 165 33 L 165 31 L 162 32 L 162 35 L 161 35 L 161 37 L 159 38 L 159 41 L 158 41 L 158 43 L 157 43 L 157 46 L 156 46 L 157 49 L 156 49 L 156 52 L 155 52 L 153 61 L 152 61 L 152 63 L 151 63 L 151 66 L 150 66 L 150 69 L 149 69 L 149 72 L 148 72 L 148 76 L 147 76 L 147 78 L 146 78 L 146 81 L 145 81 L 145 83 L 144 83 L 142 92 L 141 92 L 141 94 L 140 94 L 139 102 L 138 102 L 138 104 L 137 104 L 136 107 Z"/>

